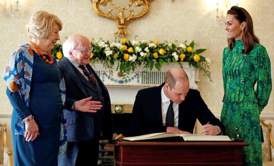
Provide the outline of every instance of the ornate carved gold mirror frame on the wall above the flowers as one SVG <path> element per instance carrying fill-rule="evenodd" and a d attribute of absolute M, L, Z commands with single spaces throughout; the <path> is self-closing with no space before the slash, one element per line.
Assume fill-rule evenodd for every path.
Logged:
<path fill-rule="evenodd" d="M 152 0 L 130 0 L 127 7 L 120 7 L 120 6 L 116 6 L 112 2 L 112 0 L 91 0 L 93 12 L 95 14 L 97 14 L 100 17 L 110 19 L 110 20 L 116 22 L 118 30 L 114 34 L 117 34 L 117 36 L 119 36 L 119 37 L 124 37 L 125 35 L 128 35 L 128 33 L 126 31 L 126 25 L 129 22 L 132 22 L 132 20 L 135 20 L 135 19 L 140 19 L 148 14 L 150 1 L 152 1 Z M 106 6 L 108 2 L 114 8 L 120 10 L 118 16 L 113 14 L 112 8 L 109 9 L 108 13 L 104 13 L 99 8 L 99 5 Z M 172 0 L 172 2 L 174 2 L 174 0 Z M 128 10 L 133 5 L 133 3 L 135 3 L 135 6 L 143 6 L 143 10 L 141 12 L 135 14 L 134 10 L 130 9 L 129 10 L 130 14 L 125 15 L 124 11 Z"/>

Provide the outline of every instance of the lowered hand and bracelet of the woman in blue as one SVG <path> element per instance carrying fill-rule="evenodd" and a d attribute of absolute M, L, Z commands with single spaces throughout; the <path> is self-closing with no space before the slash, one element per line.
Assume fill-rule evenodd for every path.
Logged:
<path fill-rule="evenodd" d="M 23 120 L 29 119 L 30 117 L 32 117 L 32 115 L 26 117 Z M 35 138 L 37 138 L 38 135 L 40 135 L 38 132 L 39 130 L 38 126 L 34 119 L 25 122 L 25 127 L 26 127 L 26 132 L 24 137 L 26 138 L 26 141 L 28 142 L 33 141 L 35 140 Z"/>

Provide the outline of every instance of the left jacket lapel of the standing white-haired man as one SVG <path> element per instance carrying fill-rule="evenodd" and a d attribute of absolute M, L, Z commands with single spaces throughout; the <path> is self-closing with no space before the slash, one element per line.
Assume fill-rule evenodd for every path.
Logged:
<path fill-rule="evenodd" d="M 72 78 L 72 80 L 76 83 L 77 86 L 79 86 L 79 88 L 83 91 L 83 93 L 87 96 L 86 91 L 83 87 L 83 84 L 81 83 L 81 81 L 79 80 L 79 76 L 76 72 L 79 73 L 79 71 L 75 68 L 75 66 L 73 66 L 69 60 L 67 58 L 64 58 L 64 61 L 66 62 L 65 64 L 65 69 L 67 70 L 68 74 L 70 75 L 70 77 Z M 77 71 L 76 71 L 77 70 Z M 80 73 L 81 74 L 81 73 Z M 82 74 L 81 74 L 82 75 Z M 82 75 L 82 77 L 84 77 Z"/>

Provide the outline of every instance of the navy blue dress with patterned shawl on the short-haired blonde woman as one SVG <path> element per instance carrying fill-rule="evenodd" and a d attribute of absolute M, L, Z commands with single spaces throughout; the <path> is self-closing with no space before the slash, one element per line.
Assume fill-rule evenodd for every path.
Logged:
<path fill-rule="evenodd" d="M 65 84 L 56 60 L 48 65 L 26 44 L 14 52 L 2 77 L 13 107 L 15 165 L 57 165 L 58 154 L 64 155 L 66 150 L 66 119 Z M 66 105 L 71 107 L 72 102 L 68 99 Z M 40 135 L 26 142 L 22 119 L 30 114 Z"/>

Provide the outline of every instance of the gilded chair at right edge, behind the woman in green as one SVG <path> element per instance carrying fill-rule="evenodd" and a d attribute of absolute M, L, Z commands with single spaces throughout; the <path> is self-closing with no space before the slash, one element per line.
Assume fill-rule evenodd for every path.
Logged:
<path fill-rule="evenodd" d="M 263 165 L 274 165 L 274 143 L 272 139 L 272 124 L 265 123 L 265 119 L 260 118 L 264 142 L 262 143 Z"/>

